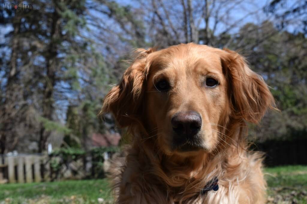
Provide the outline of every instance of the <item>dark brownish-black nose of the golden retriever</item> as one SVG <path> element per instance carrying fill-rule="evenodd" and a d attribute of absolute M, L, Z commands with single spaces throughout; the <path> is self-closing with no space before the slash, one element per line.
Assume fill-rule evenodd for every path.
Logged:
<path fill-rule="evenodd" d="M 187 137 L 195 136 L 201 128 L 201 117 L 196 112 L 176 113 L 172 117 L 174 132 Z"/>

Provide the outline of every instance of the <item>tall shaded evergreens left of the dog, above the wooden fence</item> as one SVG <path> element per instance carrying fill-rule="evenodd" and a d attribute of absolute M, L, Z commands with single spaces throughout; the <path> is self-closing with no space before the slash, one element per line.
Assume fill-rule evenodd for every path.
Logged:
<path fill-rule="evenodd" d="M 84 97 L 81 90 L 93 73 L 105 74 L 107 80 L 103 57 L 84 35 L 85 1 L 37 0 L 33 7 L 2 11 L 2 24 L 14 28 L 6 35 L 12 44 L 1 45 L 2 153 L 14 149 L 23 136 L 36 140 L 42 152 L 51 132 L 71 132 L 63 124 L 68 105 L 80 104 L 78 97 Z"/>

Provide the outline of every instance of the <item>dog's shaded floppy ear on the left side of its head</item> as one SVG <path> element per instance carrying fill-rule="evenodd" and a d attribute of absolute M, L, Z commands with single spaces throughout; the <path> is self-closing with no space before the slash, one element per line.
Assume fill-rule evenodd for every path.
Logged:
<path fill-rule="evenodd" d="M 99 114 L 112 113 L 120 128 L 130 126 L 139 119 L 144 82 L 150 66 L 146 58 L 153 51 L 154 48 L 137 49 L 134 62 L 124 72 L 119 84 L 112 87 L 104 98 Z"/>

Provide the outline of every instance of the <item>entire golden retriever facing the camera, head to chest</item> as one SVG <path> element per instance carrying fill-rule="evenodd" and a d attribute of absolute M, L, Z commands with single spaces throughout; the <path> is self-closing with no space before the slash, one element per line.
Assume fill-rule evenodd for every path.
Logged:
<path fill-rule="evenodd" d="M 101 110 L 132 136 L 116 203 L 264 203 L 263 154 L 245 139 L 275 107 L 263 78 L 227 49 L 136 53 Z"/>

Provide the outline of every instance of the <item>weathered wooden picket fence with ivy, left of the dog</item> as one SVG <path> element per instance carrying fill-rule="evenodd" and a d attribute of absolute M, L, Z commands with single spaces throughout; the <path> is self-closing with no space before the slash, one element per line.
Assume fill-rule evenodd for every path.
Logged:
<path fill-rule="evenodd" d="M 109 153 L 103 154 L 103 165 L 91 155 L 63 160 L 47 154 L 0 154 L 0 184 L 32 183 L 61 179 L 102 178 L 110 167 Z"/>

